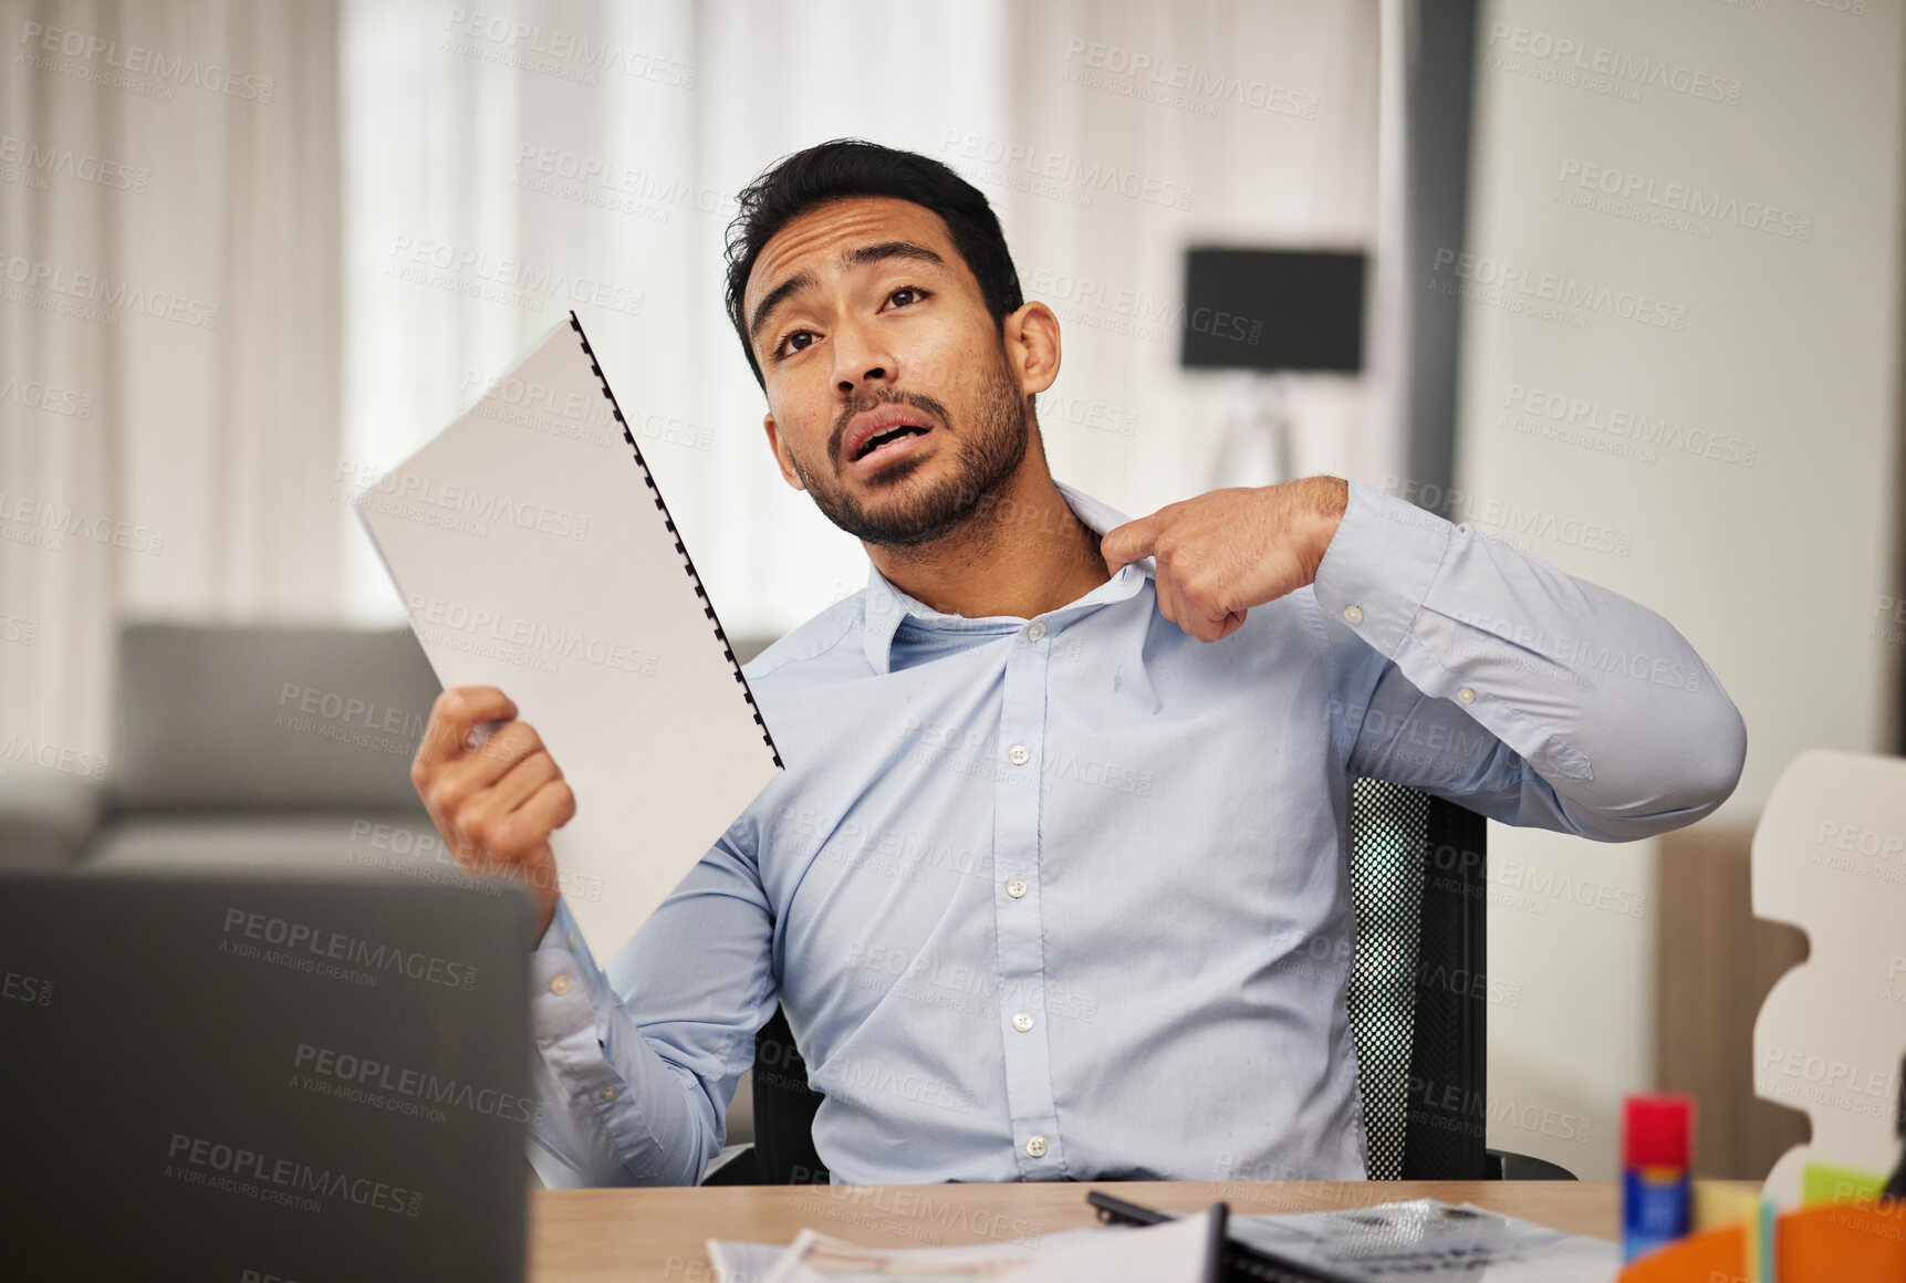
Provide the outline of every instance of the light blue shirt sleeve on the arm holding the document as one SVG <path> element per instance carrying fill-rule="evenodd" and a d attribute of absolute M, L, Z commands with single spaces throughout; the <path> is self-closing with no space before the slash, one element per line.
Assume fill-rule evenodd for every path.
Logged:
<path fill-rule="evenodd" d="M 755 866 L 728 839 L 608 970 L 557 904 L 530 955 L 530 1163 L 547 1186 L 701 1178 L 772 1007 L 770 936 Z"/>

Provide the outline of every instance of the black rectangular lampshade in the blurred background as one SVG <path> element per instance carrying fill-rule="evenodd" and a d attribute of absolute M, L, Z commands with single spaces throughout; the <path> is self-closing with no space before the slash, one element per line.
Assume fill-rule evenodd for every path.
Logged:
<path fill-rule="evenodd" d="M 1186 370 L 1363 370 L 1367 254 L 1186 250 Z"/>

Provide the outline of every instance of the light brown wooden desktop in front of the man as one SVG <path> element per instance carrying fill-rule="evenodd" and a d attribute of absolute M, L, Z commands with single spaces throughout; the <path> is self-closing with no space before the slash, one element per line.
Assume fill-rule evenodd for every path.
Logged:
<path fill-rule="evenodd" d="M 534 1190 L 530 1283 L 713 1283 L 707 1239 L 789 1243 L 802 1226 L 892 1247 L 1024 1243 L 1096 1224 L 1086 1190 L 1180 1212 L 1224 1199 L 1239 1216 L 1430 1197 L 1603 1239 L 1616 1237 L 1620 1220 L 1618 1188 L 1603 1180 Z"/>

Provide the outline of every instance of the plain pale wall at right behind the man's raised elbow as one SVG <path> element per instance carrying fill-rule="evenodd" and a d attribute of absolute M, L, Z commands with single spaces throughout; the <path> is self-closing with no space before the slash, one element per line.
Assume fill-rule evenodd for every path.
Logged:
<path fill-rule="evenodd" d="M 1891 742 L 1900 55 L 1876 0 L 1489 4 L 1477 257 L 1416 271 L 1470 292 L 1458 507 L 1662 612 L 1740 705 L 1712 824 L 1807 745 Z M 1492 825 L 1492 1146 L 1614 1172 L 1654 854 Z"/>

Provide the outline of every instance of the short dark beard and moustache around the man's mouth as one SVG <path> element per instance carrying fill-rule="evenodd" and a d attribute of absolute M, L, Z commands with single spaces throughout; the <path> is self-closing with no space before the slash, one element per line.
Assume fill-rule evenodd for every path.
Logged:
<path fill-rule="evenodd" d="M 903 404 L 923 410 L 942 423 L 943 433 L 953 438 L 957 450 L 953 471 L 928 484 L 917 494 L 902 492 L 923 458 L 896 459 L 867 477 L 867 484 L 890 492 L 892 498 L 879 507 L 869 507 L 848 494 L 841 484 L 841 440 L 848 421 L 882 404 Z M 924 393 L 902 393 L 888 387 L 875 389 L 871 397 L 856 397 L 842 406 L 835 419 L 833 435 L 827 440 L 829 479 L 821 479 L 795 459 L 795 475 L 814 498 L 814 507 L 833 524 L 846 530 L 856 540 L 877 547 L 919 547 L 932 543 L 964 522 L 980 501 L 1001 482 L 1012 477 L 1025 459 L 1027 421 L 1025 402 L 1006 368 L 1006 353 L 1001 349 L 999 364 L 987 379 L 978 398 L 970 423 L 955 429 L 955 419 L 943 402 Z M 898 492 L 898 494 L 896 494 Z"/>

